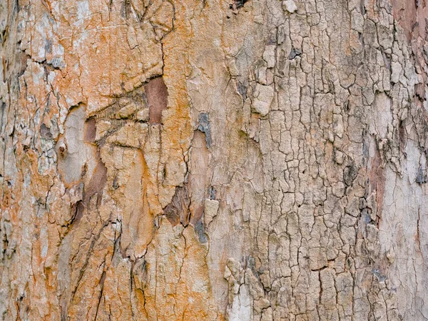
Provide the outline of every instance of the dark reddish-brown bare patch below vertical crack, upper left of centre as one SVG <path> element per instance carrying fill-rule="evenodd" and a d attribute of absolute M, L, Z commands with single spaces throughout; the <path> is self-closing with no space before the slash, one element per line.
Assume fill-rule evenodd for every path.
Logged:
<path fill-rule="evenodd" d="M 161 123 L 162 111 L 168 104 L 168 88 L 162 77 L 151 79 L 145 86 L 150 123 Z"/>

